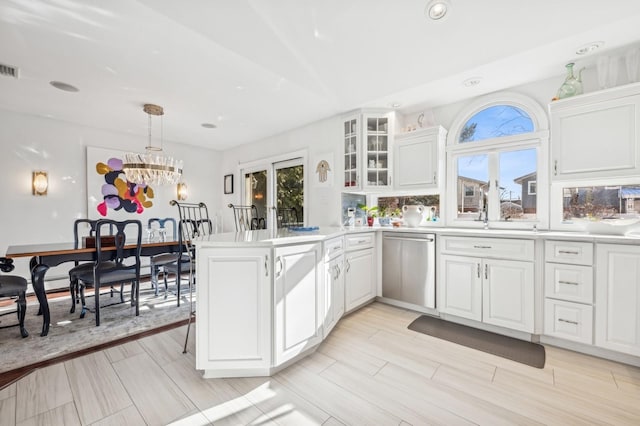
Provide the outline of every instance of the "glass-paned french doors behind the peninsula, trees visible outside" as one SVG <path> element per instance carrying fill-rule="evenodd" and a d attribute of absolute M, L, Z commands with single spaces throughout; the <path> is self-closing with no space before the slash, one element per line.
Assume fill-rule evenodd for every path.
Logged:
<path fill-rule="evenodd" d="M 242 176 L 243 204 L 256 206 L 258 223 L 267 229 L 305 223 L 304 158 L 244 168 Z"/>

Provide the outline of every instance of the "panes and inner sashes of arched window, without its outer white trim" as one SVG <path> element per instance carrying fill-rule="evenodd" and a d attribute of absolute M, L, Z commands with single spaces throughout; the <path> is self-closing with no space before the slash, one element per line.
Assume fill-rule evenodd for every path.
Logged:
<path fill-rule="evenodd" d="M 458 220 L 537 219 L 539 140 L 527 139 L 533 131 L 531 117 L 511 105 L 484 108 L 467 120 L 457 138 L 464 148 L 452 155 L 457 167 Z M 520 134 L 522 140 L 512 137 Z M 511 136 L 508 142 L 499 140 L 506 136 Z M 482 140 L 491 143 L 478 152 L 473 142 Z"/>

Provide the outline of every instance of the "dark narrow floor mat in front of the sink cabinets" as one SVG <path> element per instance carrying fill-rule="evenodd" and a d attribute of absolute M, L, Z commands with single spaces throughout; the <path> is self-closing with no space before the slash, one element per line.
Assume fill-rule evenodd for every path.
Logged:
<path fill-rule="evenodd" d="M 421 315 L 409 324 L 408 328 L 531 367 L 544 368 L 544 346 L 536 343 L 467 327 L 428 315 Z"/>

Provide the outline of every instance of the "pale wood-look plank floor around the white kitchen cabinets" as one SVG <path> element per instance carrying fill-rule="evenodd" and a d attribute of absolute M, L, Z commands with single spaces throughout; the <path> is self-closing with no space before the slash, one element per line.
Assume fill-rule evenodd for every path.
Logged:
<path fill-rule="evenodd" d="M 185 328 L 38 370 L 0 425 L 640 424 L 640 369 L 547 347 L 536 369 L 407 330 L 380 303 L 270 378 L 202 379 Z"/>

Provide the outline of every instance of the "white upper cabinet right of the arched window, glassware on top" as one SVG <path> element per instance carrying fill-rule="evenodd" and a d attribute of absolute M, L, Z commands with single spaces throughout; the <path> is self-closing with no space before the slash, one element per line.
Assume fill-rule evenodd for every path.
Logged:
<path fill-rule="evenodd" d="M 555 101 L 549 113 L 553 180 L 640 173 L 640 84 Z"/>

